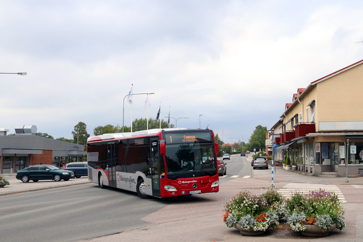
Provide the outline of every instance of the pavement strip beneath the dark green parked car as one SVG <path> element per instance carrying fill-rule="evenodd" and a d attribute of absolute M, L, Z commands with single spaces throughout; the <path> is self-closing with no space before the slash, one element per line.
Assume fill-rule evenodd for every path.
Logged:
<path fill-rule="evenodd" d="M 10 185 L 0 188 L 0 196 L 90 183 L 88 177 L 86 176 L 70 179 L 69 181 L 40 180 L 38 182 L 29 181 L 26 183 L 22 182 L 21 180 L 17 180 L 15 176 L 16 174 L 8 175 L 7 180 L 10 182 Z"/>

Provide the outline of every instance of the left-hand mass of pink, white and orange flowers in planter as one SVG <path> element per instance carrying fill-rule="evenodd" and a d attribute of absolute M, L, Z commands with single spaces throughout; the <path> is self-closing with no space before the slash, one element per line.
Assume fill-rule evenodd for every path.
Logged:
<path fill-rule="evenodd" d="M 270 226 L 278 225 L 278 212 L 272 206 L 276 204 L 276 195 L 270 189 L 264 194 L 238 193 L 224 206 L 223 222 L 227 227 L 235 227 L 238 223 L 242 229 L 253 228 L 254 231 L 265 231 Z"/>

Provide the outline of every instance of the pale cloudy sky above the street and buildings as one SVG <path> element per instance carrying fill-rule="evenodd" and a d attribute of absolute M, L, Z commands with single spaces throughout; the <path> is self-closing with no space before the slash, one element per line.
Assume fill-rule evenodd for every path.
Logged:
<path fill-rule="evenodd" d="M 298 88 L 363 59 L 362 16 L 362 1 L 1 0 L 0 72 L 28 75 L 0 74 L 0 127 L 70 139 L 82 121 L 92 136 L 122 126 L 133 84 L 155 93 L 149 117 L 161 102 L 162 117 L 189 117 L 178 127 L 200 118 L 247 142 Z M 133 119 L 145 100 L 134 95 Z"/>

